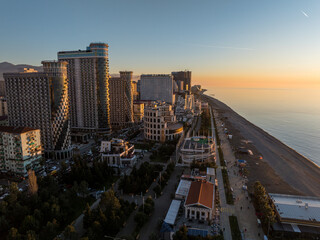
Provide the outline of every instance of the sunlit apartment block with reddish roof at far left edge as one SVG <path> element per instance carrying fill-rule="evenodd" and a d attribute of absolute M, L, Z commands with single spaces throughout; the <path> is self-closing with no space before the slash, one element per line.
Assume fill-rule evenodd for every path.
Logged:
<path fill-rule="evenodd" d="M 26 175 L 39 167 L 41 158 L 39 129 L 0 127 L 0 170 Z"/>

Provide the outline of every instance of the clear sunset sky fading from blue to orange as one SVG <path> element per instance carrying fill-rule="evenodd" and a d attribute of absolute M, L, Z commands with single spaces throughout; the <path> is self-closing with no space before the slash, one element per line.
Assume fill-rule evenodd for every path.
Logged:
<path fill-rule="evenodd" d="M 319 0 L 1 0 L 0 62 L 109 44 L 110 73 L 204 87 L 319 87 Z"/>

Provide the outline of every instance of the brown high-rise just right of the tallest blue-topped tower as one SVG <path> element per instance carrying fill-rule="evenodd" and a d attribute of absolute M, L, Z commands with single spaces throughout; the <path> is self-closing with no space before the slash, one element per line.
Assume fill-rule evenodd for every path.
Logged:
<path fill-rule="evenodd" d="M 111 126 L 121 128 L 133 123 L 132 72 L 120 72 L 109 79 Z"/>

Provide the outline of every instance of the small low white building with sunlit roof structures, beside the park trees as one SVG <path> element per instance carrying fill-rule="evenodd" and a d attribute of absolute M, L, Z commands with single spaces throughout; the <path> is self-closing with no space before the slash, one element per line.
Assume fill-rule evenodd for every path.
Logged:
<path fill-rule="evenodd" d="M 102 141 L 100 152 L 101 160 L 107 161 L 111 167 L 133 167 L 137 159 L 134 154 L 134 145 L 118 138 Z"/>

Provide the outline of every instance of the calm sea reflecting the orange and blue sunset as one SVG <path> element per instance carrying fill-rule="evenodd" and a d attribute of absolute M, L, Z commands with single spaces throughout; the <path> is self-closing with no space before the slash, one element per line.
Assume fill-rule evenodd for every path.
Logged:
<path fill-rule="evenodd" d="M 206 94 L 320 166 L 320 89 L 209 88 Z"/>

